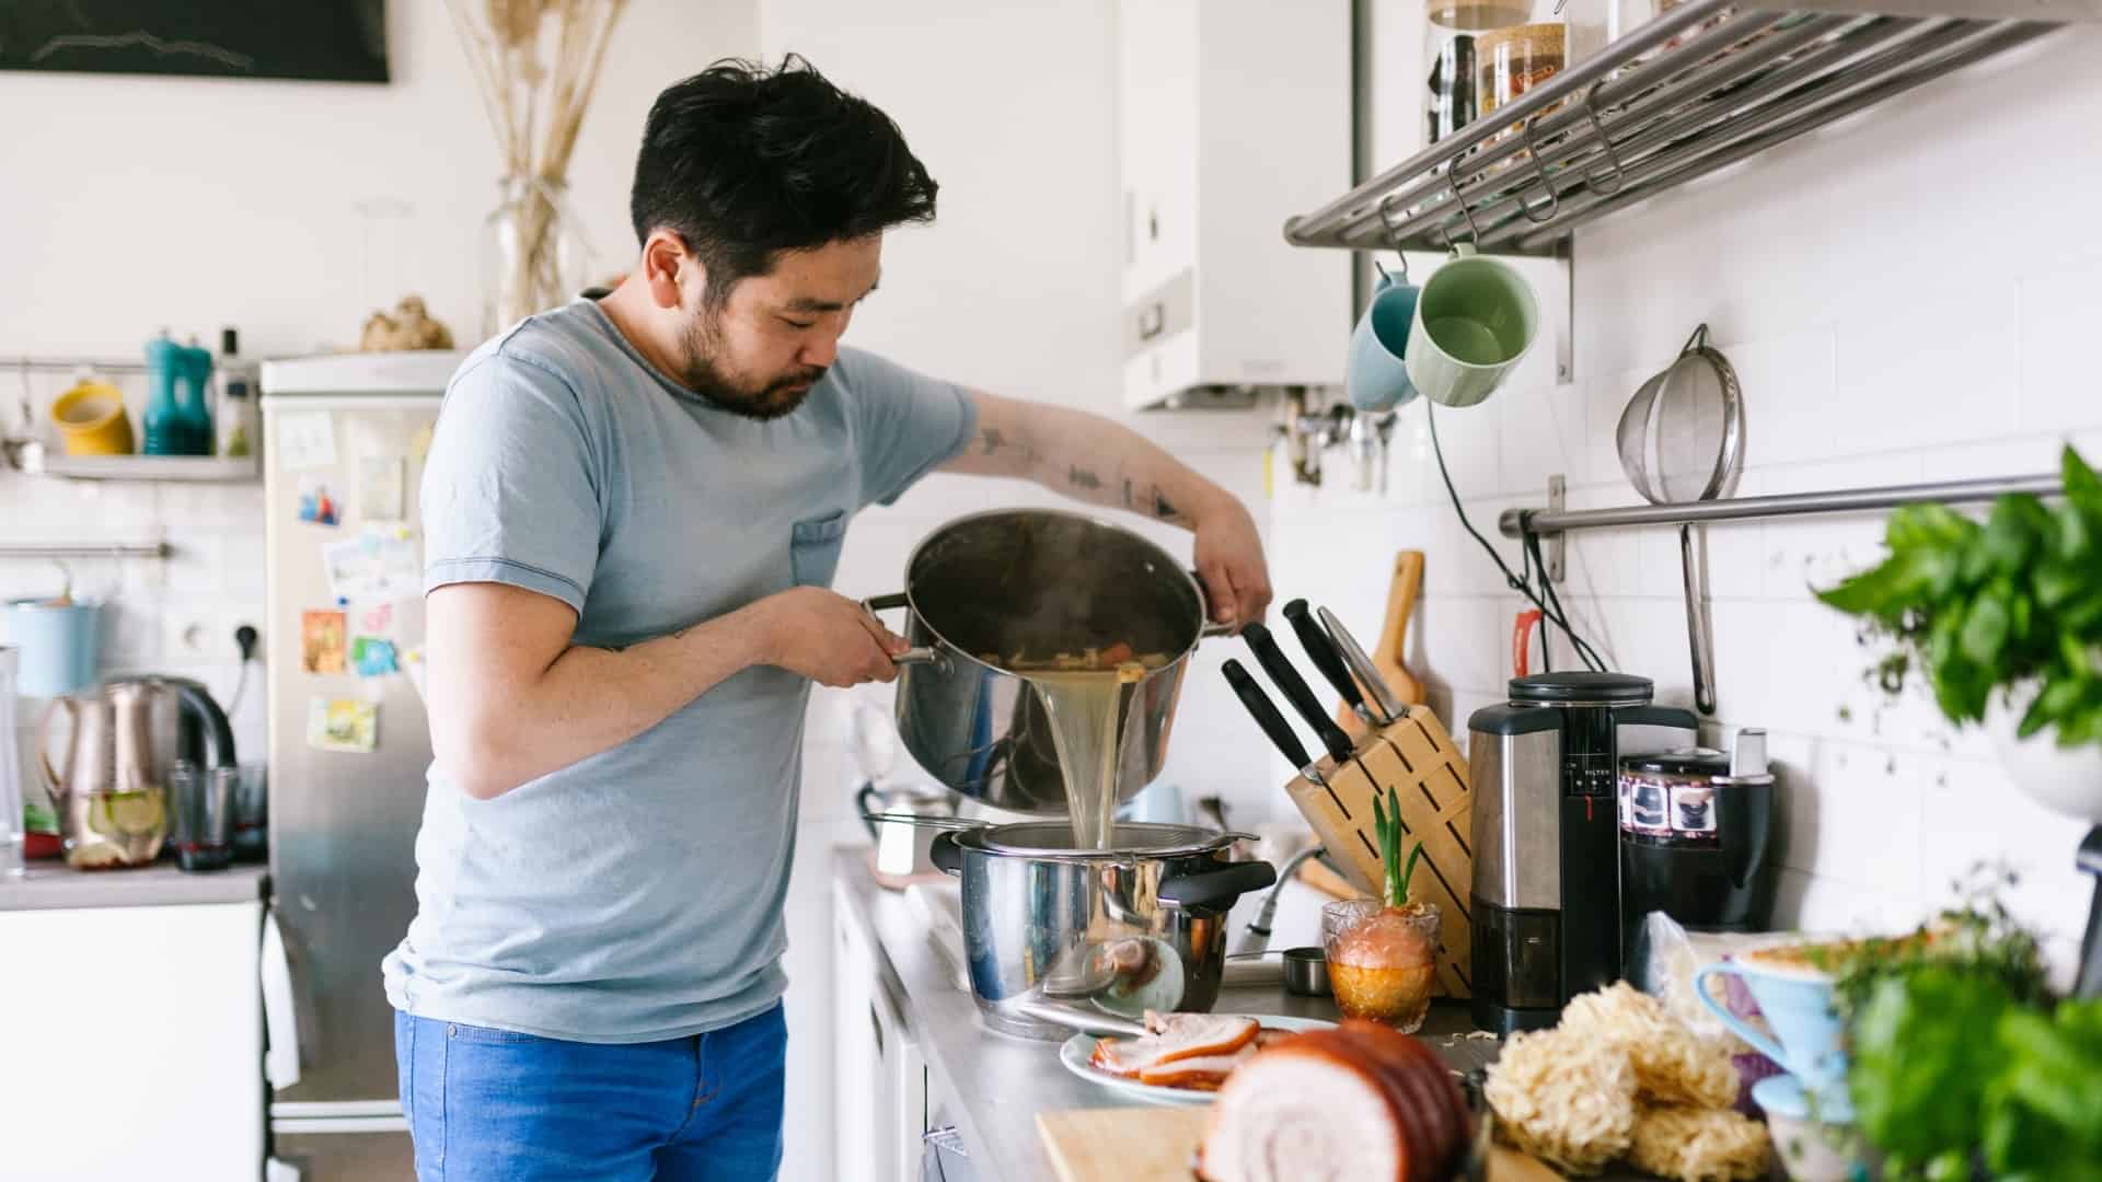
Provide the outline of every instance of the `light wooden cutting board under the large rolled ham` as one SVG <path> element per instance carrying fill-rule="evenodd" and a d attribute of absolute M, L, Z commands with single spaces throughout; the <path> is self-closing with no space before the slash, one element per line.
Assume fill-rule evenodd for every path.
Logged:
<path fill-rule="evenodd" d="M 1036 1134 L 1059 1182 L 1190 1182 L 1211 1108 L 1068 1108 L 1038 1113 Z M 1560 1182 L 1560 1174 L 1503 1146 L 1490 1182 Z"/>

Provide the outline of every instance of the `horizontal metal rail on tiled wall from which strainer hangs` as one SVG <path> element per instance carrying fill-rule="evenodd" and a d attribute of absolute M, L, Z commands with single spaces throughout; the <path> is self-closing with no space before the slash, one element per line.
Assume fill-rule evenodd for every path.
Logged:
<path fill-rule="evenodd" d="M 1862 509 L 1894 509 L 1898 505 L 1963 505 L 1991 501 L 2007 492 L 2058 496 L 2066 490 L 2058 473 L 1995 475 L 1984 480 L 1940 480 L 1930 484 L 1885 484 L 1881 488 L 1841 488 L 1831 492 L 1785 492 L 1778 496 L 1732 496 L 1728 501 L 1692 501 L 1686 505 L 1627 505 L 1621 509 L 1505 509 L 1497 517 L 1503 536 L 1566 534 L 1570 530 L 1608 530 L 1614 526 L 1679 526 L 1703 522 L 1740 522 L 1747 517 L 1801 517 L 1808 513 L 1854 513 Z"/>

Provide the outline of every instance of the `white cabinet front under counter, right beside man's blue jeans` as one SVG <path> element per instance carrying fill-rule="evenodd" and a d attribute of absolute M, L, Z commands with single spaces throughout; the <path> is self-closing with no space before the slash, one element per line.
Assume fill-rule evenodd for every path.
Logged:
<path fill-rule="evenodd" d="M 927 1064 L 845 888 L 832 892 L 834 1167 L 841 1182 L 919 1182 Z"/>

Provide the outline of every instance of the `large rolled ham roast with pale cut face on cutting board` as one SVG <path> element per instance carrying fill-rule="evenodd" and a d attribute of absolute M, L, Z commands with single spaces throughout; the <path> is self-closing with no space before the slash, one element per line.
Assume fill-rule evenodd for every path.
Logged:
<path fill-rule="evenodd" d="M 1261 1049 L 1219 1089 L 1198 1150 L 1207 1182 L 1442 1178 L 1467 1136 L 1438 1056 L 1377 1022 Z"/>

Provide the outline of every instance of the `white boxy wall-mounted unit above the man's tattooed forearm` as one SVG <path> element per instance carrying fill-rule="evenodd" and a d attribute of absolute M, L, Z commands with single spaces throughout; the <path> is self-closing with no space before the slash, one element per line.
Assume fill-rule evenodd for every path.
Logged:
<path fill-rule="evenodd" d="M 1349 0 L 1122 0 L 1122 387 L 1339 385 L 1349 257 L 1284 219 L 1349 187 Z"/>

